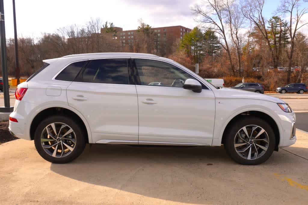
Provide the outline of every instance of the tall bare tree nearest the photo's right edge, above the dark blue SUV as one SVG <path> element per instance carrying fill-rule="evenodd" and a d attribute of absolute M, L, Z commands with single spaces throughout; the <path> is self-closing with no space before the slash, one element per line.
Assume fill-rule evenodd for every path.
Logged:
<path fill-rule="evenodd" d="M 307 0 L 283 0 L 280 7 L 277 9 L 278 14 L 290 16 L 290 21 L 289 21 L 290 25 L 288 28 L 289 35 L 290 35 L 290 52 L 287 53 L 287 56 L 289 59 L 287 83 L 290 83 L 292 58 L 293 58 L 293 53 L 294 53 L 294 40 L 296 37 L 296 33 L 300 28 L 308 24 L 308 22 L 306 22 L 306 23 L 303 23 L 302 25 L 298 25 L 299 23 L 301 23 L 302 16 L 308 13 L 308 8 L 300 9 L 300 5 L 302 2 L 308 2 L 308 1 Z"/>

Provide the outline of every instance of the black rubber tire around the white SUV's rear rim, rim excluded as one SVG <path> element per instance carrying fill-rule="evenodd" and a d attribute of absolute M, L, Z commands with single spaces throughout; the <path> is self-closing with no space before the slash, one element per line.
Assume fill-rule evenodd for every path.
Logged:
<path fill-rule="evenodd" d="M 64 123 L 71 127 L 74 130 L 76 136 L 76 145 L 73 151 L 65 157 L 53 157 L 45 152 L 42 142 L 41 142 L 41 135 L 43 130 L 46 126 L 50 125 L 51 123 L 60 122 Z M 63 164 L 70 161 L 73 161 L 75 158 L 79 157 L 79 155 L 83 152 L 83 149 L 86 145 L 86 137 L 87 135 L 81 129 L 80 125 L 75 122 L 73 119 L 64 116 L 64 115 L 53 115 L 46 119 L 44 119 L 39 126 L 37 126 L 35 133 L 34 133 L 34 145 L 38 153 L 43 157 L 45 160 L 50 161 L 52 163 Z"/>

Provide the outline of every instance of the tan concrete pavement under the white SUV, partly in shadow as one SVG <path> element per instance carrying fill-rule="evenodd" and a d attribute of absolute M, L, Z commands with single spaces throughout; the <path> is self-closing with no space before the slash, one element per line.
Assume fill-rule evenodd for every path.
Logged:
<path fill-rule="evenodd" d="M 308 140 L 244 166 L 223 147 L 87 145 L 51 164 L 33 141 L 0 145 L 2 204 L 306 204 Z M 299 156 L 298 156 L 299 155 Z M 303 156 L 303 157 L 301 157 Z"/>

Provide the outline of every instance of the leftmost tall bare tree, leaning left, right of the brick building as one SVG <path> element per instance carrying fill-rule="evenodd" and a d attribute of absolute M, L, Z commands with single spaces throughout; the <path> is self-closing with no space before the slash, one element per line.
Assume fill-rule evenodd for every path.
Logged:
<path fill-rule="evenodd" d="M 203 5 L 196 4 L 191 10 L 198 16 L 194 20 L 201 23 L 206 29 L 213 29 L 218 34 L 219 38 L 224 41 L 220 42 L 221 47 L 225 49 L 228 55 L 233 75 L 235 75 L 234 65 L 232 62 L 231 52 L 228 44 L 227 31 L 225 30 L 225 24 L 223 18 L 225 17 L 225 0 L 205 0 Z"/>

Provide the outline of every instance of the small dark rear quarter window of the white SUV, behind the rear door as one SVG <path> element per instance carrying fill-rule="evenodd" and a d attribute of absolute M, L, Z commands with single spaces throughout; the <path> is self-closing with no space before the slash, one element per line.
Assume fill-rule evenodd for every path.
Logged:
<path fill-rule="evenodd" d="M 75 62 L 64 68 L 55 78 L 56 80 L 73 81 L 87 61 Z"/>

